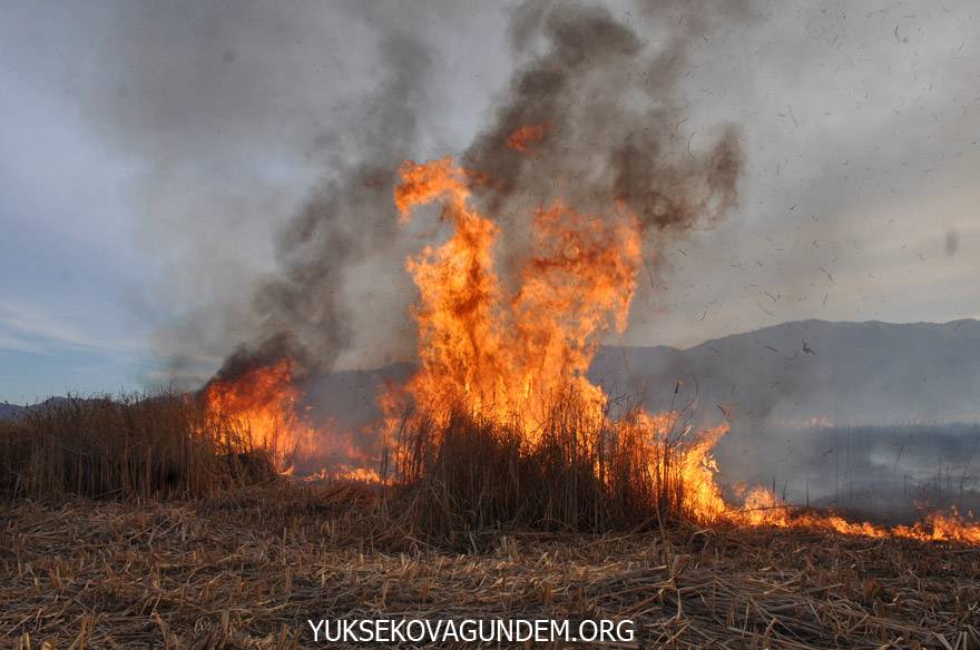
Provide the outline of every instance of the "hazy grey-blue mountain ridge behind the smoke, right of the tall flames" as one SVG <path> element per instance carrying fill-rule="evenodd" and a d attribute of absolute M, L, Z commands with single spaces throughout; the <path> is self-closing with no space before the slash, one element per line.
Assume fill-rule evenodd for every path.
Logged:
<path fill-rule="evenodd" d="M 980 421 L 980 322 L 784 323 L 689 349 L 604 347 L 590 375 L 664 407 L 678 380 L 743 422 Z"/>

